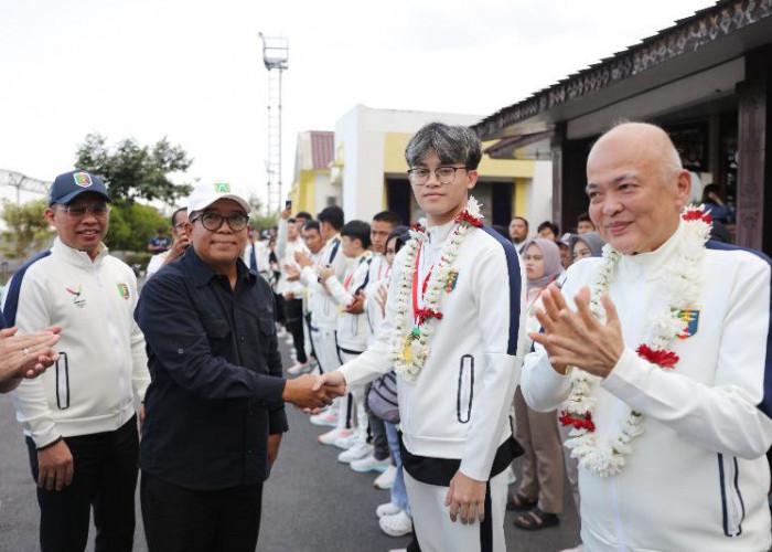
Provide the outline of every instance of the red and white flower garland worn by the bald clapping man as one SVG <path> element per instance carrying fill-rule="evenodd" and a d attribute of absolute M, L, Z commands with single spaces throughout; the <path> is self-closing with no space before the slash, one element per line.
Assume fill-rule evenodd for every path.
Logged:
<path fill-rule="evenodd" d="M 677 237 L 676 245 L 678 262 L 672 264 L 662 282 L 667 307 L 650 318 L 646 332 L 648 341 L 635 350 L 639 357 L 663 370 L 672 370 L 678 363 L 678 355 L 668 347 L 685 327 L 679 312 L 699 299 L 699 263 L 705 255 L 705 242 L 710 237 L 711 217 L 701 205 L 685 209 L 682 219 L 682 234 Z M 601 297 L 609 289 L 621 258 L 622 254 L 610 245 L 603 247 L 603 265 L 590 295 L 590 310 L 599 320 L 605 317 Z M 600 378 L 577 367 L 570 367 L 569 373 L 571 391 L 561 405 L 559 417 L 562 425 L 571 426 L 566 446 L 571 449 L 571 456 L 579 459 L 580 467 L 600 477 L 616 475 L 624 467 L 625 456 L 632 453 L 631 442 L 644 432 L 643 414 L 631 410 L 621 424 L 619 435 L 607 443 L 600 443 L 594 435 L 596 423 L 592 420 L 597 402 L 593 389 L 600 383 Z"/>

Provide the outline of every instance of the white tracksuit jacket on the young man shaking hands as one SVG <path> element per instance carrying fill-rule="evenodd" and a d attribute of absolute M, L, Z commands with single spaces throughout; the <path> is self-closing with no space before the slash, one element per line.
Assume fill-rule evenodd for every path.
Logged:
<path fill-rule="evenodd" d="M 431 243 L 435 236 L 443 241 L 451 226 L 429 229 Z M 458 279 L 441 300 L 443 318 L 430 337 L 426 364 L 415 382 L 397 378 L 400 425 L 410 453 L 460 459 L 467 476 L 487 480 L 497 447 L 512 435 L 508 413 L 524 344 L 524 277 L 512 243 L 489 227 L 469 229 L 451 268 Z M 341 367 L 349 384 L 393 369 L 396 293 L 403 270 L 412 269 L 400 251 L 378 339 Z"/>

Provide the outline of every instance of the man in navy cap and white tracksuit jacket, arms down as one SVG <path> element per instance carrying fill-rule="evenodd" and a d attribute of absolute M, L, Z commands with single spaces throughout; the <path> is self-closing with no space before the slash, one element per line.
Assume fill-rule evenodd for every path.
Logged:
<path fill-rule="evenodd" d="M 135 532 L 137 414 L 150 382 L 133 322 L 137 282 L 101 240 L 109 224 L 103 181 L 75 170 L 51 185 L 45 219 L 56 240 L 11 280 L 3 306 L 20 332 L 58 326 L 58 360 L 13 392 L 41 509 L 43 551 L 130 551 Z M 141 412 L 140 412 L 141 418 Z"/>

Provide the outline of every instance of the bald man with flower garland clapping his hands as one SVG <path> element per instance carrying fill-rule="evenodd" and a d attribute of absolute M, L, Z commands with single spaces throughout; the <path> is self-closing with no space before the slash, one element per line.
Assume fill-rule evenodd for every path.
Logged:
<path fill-rule="evenodd" d="M 544 294 L 521 381 L 572 427 L 585 548 L 769 550 L 769 259 L 708 241 L 658 127 L 603 135 L 587 179 L 608 245 Z"/>

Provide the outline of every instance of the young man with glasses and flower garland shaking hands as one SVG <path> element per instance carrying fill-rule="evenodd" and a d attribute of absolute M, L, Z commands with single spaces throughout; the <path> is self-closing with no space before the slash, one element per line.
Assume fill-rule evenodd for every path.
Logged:
<path fill-rule="evenodd" d="M 470 129 L 427 125 L 405 157 L 428 229 L 394 262 L 377 341 L 319 384 L 396 370 L 421 550 L 504 551 L 505 468 L 518 452 L 508 412 L 521 367 L 521 266 L 469 197 L 482 157 Z"/>

